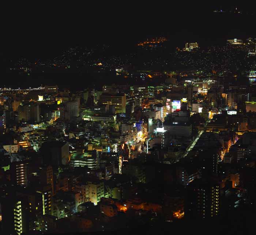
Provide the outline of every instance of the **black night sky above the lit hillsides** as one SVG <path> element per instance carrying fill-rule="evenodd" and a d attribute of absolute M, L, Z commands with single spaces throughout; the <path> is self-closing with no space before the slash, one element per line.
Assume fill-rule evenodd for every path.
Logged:
<path fill-rule="evenodd" d="M 166 36 L 176 46 L 198 41 L 200 46 L 227 38 L 256 37 L 255 15 L 214 14 L 235 9 L 218 4 L 95 4 L 7 8 L 3 17 L 5 58 L 48 58 L 75 45 L 109 43 L 119 48 L 148 37 Z M 251 6 L 237 6 L 251 13 Z"/>

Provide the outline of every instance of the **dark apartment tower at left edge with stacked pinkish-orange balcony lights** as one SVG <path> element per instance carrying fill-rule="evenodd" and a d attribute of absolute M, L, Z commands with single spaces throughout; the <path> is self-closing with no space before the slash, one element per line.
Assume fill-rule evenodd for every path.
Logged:
<path fill-rule="evenodd" d="M 10 165 L 11 181 L 14 185 L 27 186 L 28 161 L 12 162 Z"/>

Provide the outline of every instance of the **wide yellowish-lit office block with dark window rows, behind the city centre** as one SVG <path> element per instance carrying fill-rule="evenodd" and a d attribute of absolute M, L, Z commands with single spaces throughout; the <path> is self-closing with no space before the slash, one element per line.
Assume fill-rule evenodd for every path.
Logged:
<path fill-rule="evenodd" d="M 125 113 L 126 96 L 119 94 L 112 95 L 108 93 L 102 93 L 99 98 L 99 103 L 103 105 L 114 105 L 116 113 Z"/>

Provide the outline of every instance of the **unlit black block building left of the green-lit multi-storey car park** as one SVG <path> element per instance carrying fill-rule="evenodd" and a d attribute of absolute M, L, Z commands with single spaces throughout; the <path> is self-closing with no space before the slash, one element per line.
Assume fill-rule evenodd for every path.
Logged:
<path fill-rule="evenodd" d="M 66 142 L 50 141 L 42 144 L 40 152 L 46 165 L 67 165 L 69 160 L 69 145 Z"/>

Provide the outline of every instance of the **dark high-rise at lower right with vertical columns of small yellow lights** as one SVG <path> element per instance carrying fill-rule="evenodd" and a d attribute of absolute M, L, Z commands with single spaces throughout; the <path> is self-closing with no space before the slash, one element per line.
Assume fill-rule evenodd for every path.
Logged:
<path fill-rule="evenodd" d="M 215 179 L 194 179 L 185 194 L 185 217 L 205 219 L 219 216 L 222 184 Z"/>

